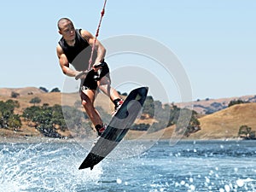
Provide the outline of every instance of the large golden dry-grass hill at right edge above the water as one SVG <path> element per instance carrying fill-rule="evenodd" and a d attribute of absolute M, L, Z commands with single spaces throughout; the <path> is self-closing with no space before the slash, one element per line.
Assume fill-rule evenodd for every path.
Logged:
<path fill-rule="evenodd" d="M 199 119 L 201 131 L 189 138 L 216 139 L 237 137 L 241 125 L 248 125 L 256 130 L 256 103 L 246 103 L 225 108 L 217 113 Z"/>

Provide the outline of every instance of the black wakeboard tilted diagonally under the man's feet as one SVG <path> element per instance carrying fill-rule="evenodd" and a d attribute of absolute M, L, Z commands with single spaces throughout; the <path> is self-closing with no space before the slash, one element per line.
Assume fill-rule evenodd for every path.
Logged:
<path fill-rule="evenodd" d="M 126 97 L 121 108 L 119 108 L 110 120 L 102 136 L 79 166 L 79 169 L 90 167 L 90 170 L 92 170 L 96 164 L 101 162 L 119 144 L 137 119 L 138 114 L 143 108 L 147 94 L 148 87 L 131 90 L 131 93 Z"/>

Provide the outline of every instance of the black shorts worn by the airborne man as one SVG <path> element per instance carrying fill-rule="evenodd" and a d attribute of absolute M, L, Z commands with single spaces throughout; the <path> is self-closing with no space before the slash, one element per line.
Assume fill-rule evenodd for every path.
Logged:
<path fill-rule="evenodd" d="M 95 72 L 93 69 L 86 75 L 84 82 L 81 82 L 81 90 L 96 90 L 97 81 L 101 80 L 104 76 L 110 79 L 109 68 L 106 62 L 103 62 L 102 68 Z"/>

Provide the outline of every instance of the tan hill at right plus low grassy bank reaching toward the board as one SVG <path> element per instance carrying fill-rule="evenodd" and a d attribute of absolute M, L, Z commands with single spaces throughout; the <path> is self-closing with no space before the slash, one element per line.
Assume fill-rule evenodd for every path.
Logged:
<path fill-rule="evenodd" d="M 222 111 L 209 114 L 199 119 L 201 122 L 201 131 L 191 134 L 183 139 L 224 139 L 237 138 L 241 125 L 248 125 L 256 131 L 256 103 L 239 104 Z M 175 126 L 167 127 L 165 130 L 157 131 L 151 134 L 141 133 L 139 137 L 143 139 L 180 139 L 175 137 L 173 131 Z M 137 139 L 134 131 L 128 132 L 128 138 Z"/>

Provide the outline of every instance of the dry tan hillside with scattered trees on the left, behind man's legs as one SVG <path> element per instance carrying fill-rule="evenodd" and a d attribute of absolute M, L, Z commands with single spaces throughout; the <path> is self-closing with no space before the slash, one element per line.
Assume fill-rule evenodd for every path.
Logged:
<path fill-rule="evenodd" d="M 19 93 L 20 96 L 17 98 L 11 97 L 11 92 L 15 91 Z M 42 106 L 43 104 L 47 103 L 49 106 L 53 106 L 55 104 L 59 105 L 67 105 L 67 106 L 74 106 L 75 102 L 80 102 L 79 93 L 61 93 L 61 92 L 49 92 L 46 93 L 38 88 L 34 87 L 27 87 L 22 89 L 0 89 L 0 101 L 6 102 L 7 100 L 11 99 L 14 101 L 18 101 L 20 103 L 20 108 L 15 108 L 15 113 L 23 113 L 25 108 L 29 108 L 34 104 L 30 103 L 32 98 L 38 97 L 40 98 L 41 102 L 35 104 L 37 106 Z M 101 106 L 105 111 L 111 112 L 113 108 L 113 103 L 110 102 L 107 96 L 103 94 L 99 94 L 96 97 L 96 106 Z M 81 105 L 81 110 L 84 111 L 84 108 Z M 19 131 L 13 131 L 11 129 L 0 129 L 0 141 L 1 137 L 42 137 L 42 135 L 34 128 L 30 127 L 27 122 L 22 120 L 22 126 Z M 61 133 L 62 136 L 68 135 L 68 131 L 65 133 Z"/>

